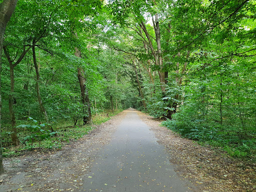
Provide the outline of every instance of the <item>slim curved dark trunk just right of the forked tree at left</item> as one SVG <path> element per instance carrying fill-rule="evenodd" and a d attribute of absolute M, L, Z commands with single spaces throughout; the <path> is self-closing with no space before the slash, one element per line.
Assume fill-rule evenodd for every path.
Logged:
<path fill-rule="evenodd" d="M 33 40 L 33 44 L 34 44 L 34 40 Z M 35 57 L 35 47 L 32 46 L 32 53 L 33 53 L 33 63 L 34 63 L 34 68 L 35 68 L 35 73 L 36 73 L 36 93 L 37 93 L 37 100 L 39 103 L 39 108 L 40 111 L 43 113 L 43 116 L 46 120 L 46 122 L 49 121 L 48 116 L 47 116 L 47 112 L 42 104 L 42 99 L 41 99 L 41 95 L 40 95 L 40 86 L 39 86 L 39 81 L 40 81 L 40 74 L 39 74 L 39 69 L 38 69 L 38 65 L 36 62 L 36 57 Z"/>

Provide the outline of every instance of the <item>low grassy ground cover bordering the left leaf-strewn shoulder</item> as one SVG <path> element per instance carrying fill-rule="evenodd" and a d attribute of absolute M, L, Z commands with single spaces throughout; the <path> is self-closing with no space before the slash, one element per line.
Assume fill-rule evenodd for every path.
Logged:
<path fill-rule="evenodd" d="M 116 115 L 121 110 L 116 110 L 114 112 L 100 112 L 92 115 L 92 121 L 94 125 L 99 125 L 110 119 L 111 116 Z M 78 122 L 81 123 L 82 121 Z M 33 140 L 33 141 L 21 141 L 24 136 L 27 135 L 28 131 L 25 129 L 20 129 L 18 137 L 21 141 L 20 145 L 17 147 L 7 147 L 10 143 L 10 135 L 8 132 L 2 132 L 3 140 L 3 150 L 2 154 L 4 157 L 17 156 L 25 150 L 49 150 L 49 149 L 60 149 L 63 145 L 69 143 L 71 140 L 79 139 L 83 135 L 88 134 L 90 130 L 93 129 L 91 125 L 78 124 L 73 126 L 70 121 L 59 121 L 52 125 L 54 131 L 57 132 L 56 136 L 48 137 L 44 140 Z M 7 137 L 6 137 L 7 136 Z"/>

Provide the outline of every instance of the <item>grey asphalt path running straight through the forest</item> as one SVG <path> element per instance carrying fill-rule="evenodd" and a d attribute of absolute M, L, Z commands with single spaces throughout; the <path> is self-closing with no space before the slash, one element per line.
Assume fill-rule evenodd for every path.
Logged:
<path fill-rule="evenodd" d="M 196 191 L 178 175 L 163 145 L 130 109 L 109 144 L 96 154 L 81 191 Z"/>

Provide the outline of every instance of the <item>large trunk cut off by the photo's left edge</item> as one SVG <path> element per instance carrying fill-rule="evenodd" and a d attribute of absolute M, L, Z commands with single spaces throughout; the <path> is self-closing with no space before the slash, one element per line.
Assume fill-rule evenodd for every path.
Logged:
<path fill-rule="evenodd" d="M 0 174 L 3 173 L 2 165 L 2 139 L 1 139 L 1 70 L 2 70 L 2 46 L 6 24 L 9 21 L 17 0 L 3 0 L 0 3 Z"/>

